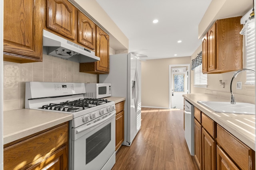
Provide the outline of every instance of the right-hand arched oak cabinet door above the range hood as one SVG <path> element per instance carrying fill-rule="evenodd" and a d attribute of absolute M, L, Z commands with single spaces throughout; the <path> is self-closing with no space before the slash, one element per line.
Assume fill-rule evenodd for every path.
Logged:
<path fill-rule="evenodd" d="M 90 49 L 95 50 L 96 45 L 96 25 L 85 16 L 82 12 L 78 11 L 78 42 L 86 45 Z"/>

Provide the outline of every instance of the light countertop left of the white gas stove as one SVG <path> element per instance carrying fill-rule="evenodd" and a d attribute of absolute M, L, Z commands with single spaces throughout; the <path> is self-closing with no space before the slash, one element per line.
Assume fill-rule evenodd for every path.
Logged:
<path fill-rule="evenodd" d="M 4 144 L 73 119 L 72 114 L 34 109 L 4 111 Z"/>

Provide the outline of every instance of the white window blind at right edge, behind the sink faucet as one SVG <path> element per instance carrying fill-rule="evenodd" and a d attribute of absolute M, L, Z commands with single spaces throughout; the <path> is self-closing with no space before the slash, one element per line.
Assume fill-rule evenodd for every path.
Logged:
<path fill-rule="evenodd" d="M 255 70 L 255 27 L 249 27 L 246 24 L 246 66 L 245 68 L 251 68 Z M 255 84 L 255 74 L 252 72 L 246 72 L 245 84 Z"/>

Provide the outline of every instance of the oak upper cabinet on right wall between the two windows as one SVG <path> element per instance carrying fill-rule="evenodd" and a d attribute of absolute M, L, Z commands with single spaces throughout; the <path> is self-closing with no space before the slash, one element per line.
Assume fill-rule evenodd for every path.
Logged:
<path fill-rule="evenodd" d="M 241 17 L 217 20 L 202 39 L 202 72 L 223 73 L 243 68 Z"/>

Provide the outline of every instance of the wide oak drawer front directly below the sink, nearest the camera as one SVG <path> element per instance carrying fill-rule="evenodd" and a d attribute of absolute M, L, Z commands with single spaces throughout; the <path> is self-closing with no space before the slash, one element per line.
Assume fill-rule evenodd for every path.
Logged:
<path fill-rule="evenodd" d="M 255 169 L 255 152 L 217 125 L 217 143 L 228 156 L 243 170 Z"/>

